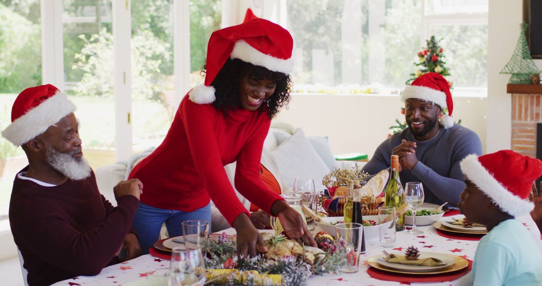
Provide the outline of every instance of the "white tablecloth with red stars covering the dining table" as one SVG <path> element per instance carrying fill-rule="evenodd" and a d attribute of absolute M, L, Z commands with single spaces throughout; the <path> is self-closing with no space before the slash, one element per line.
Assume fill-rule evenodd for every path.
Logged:
<path fill-rule="evenodd" d="M 451 217 L 461 218 L 459 211 L 450 210 L 443 220 L 450 220 Z M 527 226 L 527 225 L 526 225 Z M 398 231 L 396 235 L 396 244 L 391 248 L 386 248 L 388 252 L 398 253 L 403 252 L 409 246 L 415 246 L 422 252 L 435 252 L 455 255 L 467 259 L 469 267 L 461 271 L 457 271 L 456 275 L 390 275 L 384 271 L 372 269 L 368 264 L 371 257 L 382 254 L 383 248 L 380 248 L 378 239 L 367 240 L 366 253 L 360 256 L 359 271 L 353 274 L 338 273 L 313 275 L 309 278 L 309 285 L 333 285 L 333 286 L 349 286 L 349 285 L 472 285 L 472 261 L 476 247 L 478 246 L 480 236 L 478 237 L 454 237 L 453 233 L 444 233 L 438 231 L 435 226 L 418 226 L 422 230 L 421 235 L 410 235 L 406 230 Z M 262 230 L 272 232 L 272 230 Z M 319 231 L 316 227 L 314 232 Z M 229 228 L 220 233 L 227 233 L 235 236 L 235 229 Z M 154 256 L 151 255 L 154 253 Z M 168 268 L 170 262 L 167 259 L 167 254 L 157 255 L 156 251 L 151 254 L 143 255 L 130 261 L 122 262 L 104 268 L 100 274 L 96 276 L 77 276 L 55 283 L 54 285 L 123 285 L 138 280 L 147 278 L 147 273 L 158 268 Z M 457 277 L 459 276 L 459 277 Z M 436 278 L 435 278 L 436 277 Z M 389 281 L 394 280 L 394 281 Z M 442 281 L 439 281 L 442 280 Z M 449 280 L 449 281 L 448 281 Z"/>

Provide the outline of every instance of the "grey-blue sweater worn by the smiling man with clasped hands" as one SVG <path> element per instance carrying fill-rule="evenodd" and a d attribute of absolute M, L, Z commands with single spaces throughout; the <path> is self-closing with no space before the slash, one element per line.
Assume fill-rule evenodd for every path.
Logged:
<path fill-rule="evenodd" d="M 427 141 L 418 141 L 409 128 L 393 134 L 378 146 L 363 171 L 375 174 L 389 168 L 393 148 L 401 140 L 416 142 L 418 163 L 412 170 L 403 168 L 399 173 L 403 187 L 410 181 L 421 181 L 427 203 L 442 204 L 448 201 L 457 206 L 459 194 L 464 190 L 464 177 L 459 162 L 469 154 L 482 155 L 480 138 L 472 130 L 459 124 L 444 129 Z"/>

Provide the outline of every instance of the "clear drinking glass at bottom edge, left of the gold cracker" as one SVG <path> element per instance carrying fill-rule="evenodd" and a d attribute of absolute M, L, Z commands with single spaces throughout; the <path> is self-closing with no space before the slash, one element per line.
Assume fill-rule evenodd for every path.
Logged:
<path fill-rule="evenodd" d="M 205 260 L 201 249 L 171 251 L 171 285 L 203 285 L 205 283 Z"/>

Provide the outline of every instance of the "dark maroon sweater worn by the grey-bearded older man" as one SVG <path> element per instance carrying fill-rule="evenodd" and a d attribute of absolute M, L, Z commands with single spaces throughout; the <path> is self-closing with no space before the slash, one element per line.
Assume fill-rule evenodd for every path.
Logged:
<path fill-rule="evenodd" d="M 85 180 L 54 187 L 16 177 L 9 222 L 29 285 L 98 275 L 113 264 L 139 206 L 133 196 L 117 202 L 113 207 L 100 194 L 94 172 Z"/>

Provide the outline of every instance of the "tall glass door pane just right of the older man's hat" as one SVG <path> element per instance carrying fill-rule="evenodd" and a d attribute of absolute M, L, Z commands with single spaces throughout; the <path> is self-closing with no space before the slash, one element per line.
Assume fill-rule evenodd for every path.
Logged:
<path fill-rule="evenodd" d="M 83 152 L 93 168 L 114 163 L 112 32 L 111 0 L 62 1 L 62 91 L 77 106 Z"/>

